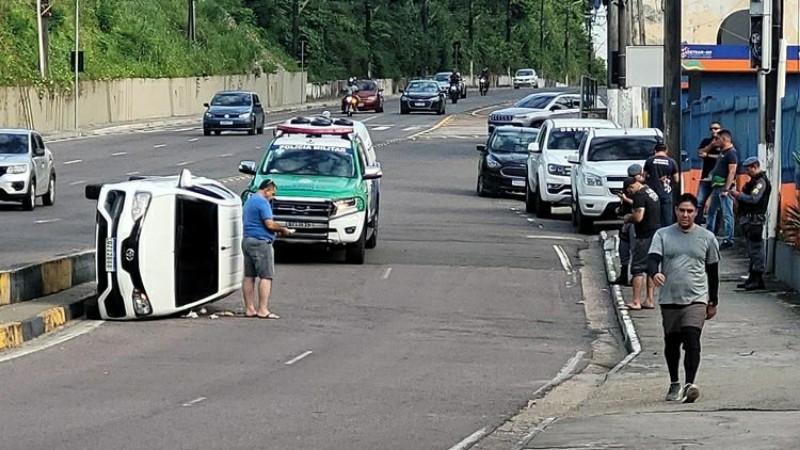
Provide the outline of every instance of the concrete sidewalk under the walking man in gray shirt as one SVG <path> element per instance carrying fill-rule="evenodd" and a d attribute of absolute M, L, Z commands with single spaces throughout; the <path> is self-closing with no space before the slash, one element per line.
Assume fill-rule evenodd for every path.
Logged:
<path fill-rule="evenodd" d="M 605 248 L 619 267 L 615 243 L 609 236 Z M 630 313 L 627 344 L 641 353 L 521 448 L 800 447 L 800 304 L 779 291 L 735 290 L 747 272 L 738 249 L 722 252 L 720 272 L 719 312 L 703 330 L 696 403 L 664 401 L 669 377 L 659 310 L 618 311 L 622 320 Z M 618 302 L 630 298 L 630 288 L 618 292 Z"/>

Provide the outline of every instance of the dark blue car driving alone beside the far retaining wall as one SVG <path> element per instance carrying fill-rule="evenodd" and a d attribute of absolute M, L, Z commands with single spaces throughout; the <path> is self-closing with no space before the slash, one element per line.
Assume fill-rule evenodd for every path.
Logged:
<path fill-rule="evenodd" d="M 217 92 L 211 103 L 204 103 L 203 134 L 219 135 L 223 131 L 247 131 L 247 134 L 264 132 L 264 107 L 255 92 Z"/>

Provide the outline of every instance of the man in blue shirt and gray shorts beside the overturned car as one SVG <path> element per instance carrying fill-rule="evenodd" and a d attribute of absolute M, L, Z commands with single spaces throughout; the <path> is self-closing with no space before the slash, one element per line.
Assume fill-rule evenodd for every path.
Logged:
<path fill-rule="evenodd" d="M 272 291 L 272 277 L 275 273 L 275 255 L 272 243 L 275 235 L 288 236 L 294 230 L 278 225 L 272 216 L 270 200 L 275 197 L 278 187 L 272 180 L 264 180 L 258 190 L 248 197 L 243 207 L 244 238 L 244 315 L 261 319 L 280 319 L 269 310 L 269 294 Z M 255 308 L 255 285 L 258 281 L 258 310 Z"/>

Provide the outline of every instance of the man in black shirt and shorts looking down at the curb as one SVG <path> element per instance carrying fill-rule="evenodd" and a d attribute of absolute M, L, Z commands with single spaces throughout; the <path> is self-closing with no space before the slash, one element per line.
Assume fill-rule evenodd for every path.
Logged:
<path fill-rule="evenodd" d="M 658 195 L 650 187 L 633 177 L 625 179 L 622 190 L 633 198 L 633 212 L 626 215 L 624 221 L 633 224 L 635 234 L 631 240 L 633 299 L 627 306 L 629 309 L 653 309 L 655 284 L 653 279 L 647 276 L 647 254 L 650 251 L 653 235 L 661 223 Z M 645 278 L 647 279 L 647 297 L 644 302 L 641 302 Z"/>

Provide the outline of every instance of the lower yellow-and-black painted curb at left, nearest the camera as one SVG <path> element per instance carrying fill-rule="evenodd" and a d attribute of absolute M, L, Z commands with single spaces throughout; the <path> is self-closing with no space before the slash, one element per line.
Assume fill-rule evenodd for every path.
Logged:
<path fill-rule="evenodd" d="M 19 347 L 67 322 L 86 317 L 89 309 L 87 302 L 95 298 L 96 294 L 82 295 L 61 306 L 47 308 L 23 321 L 0 323 L 0 351 Z"/>

